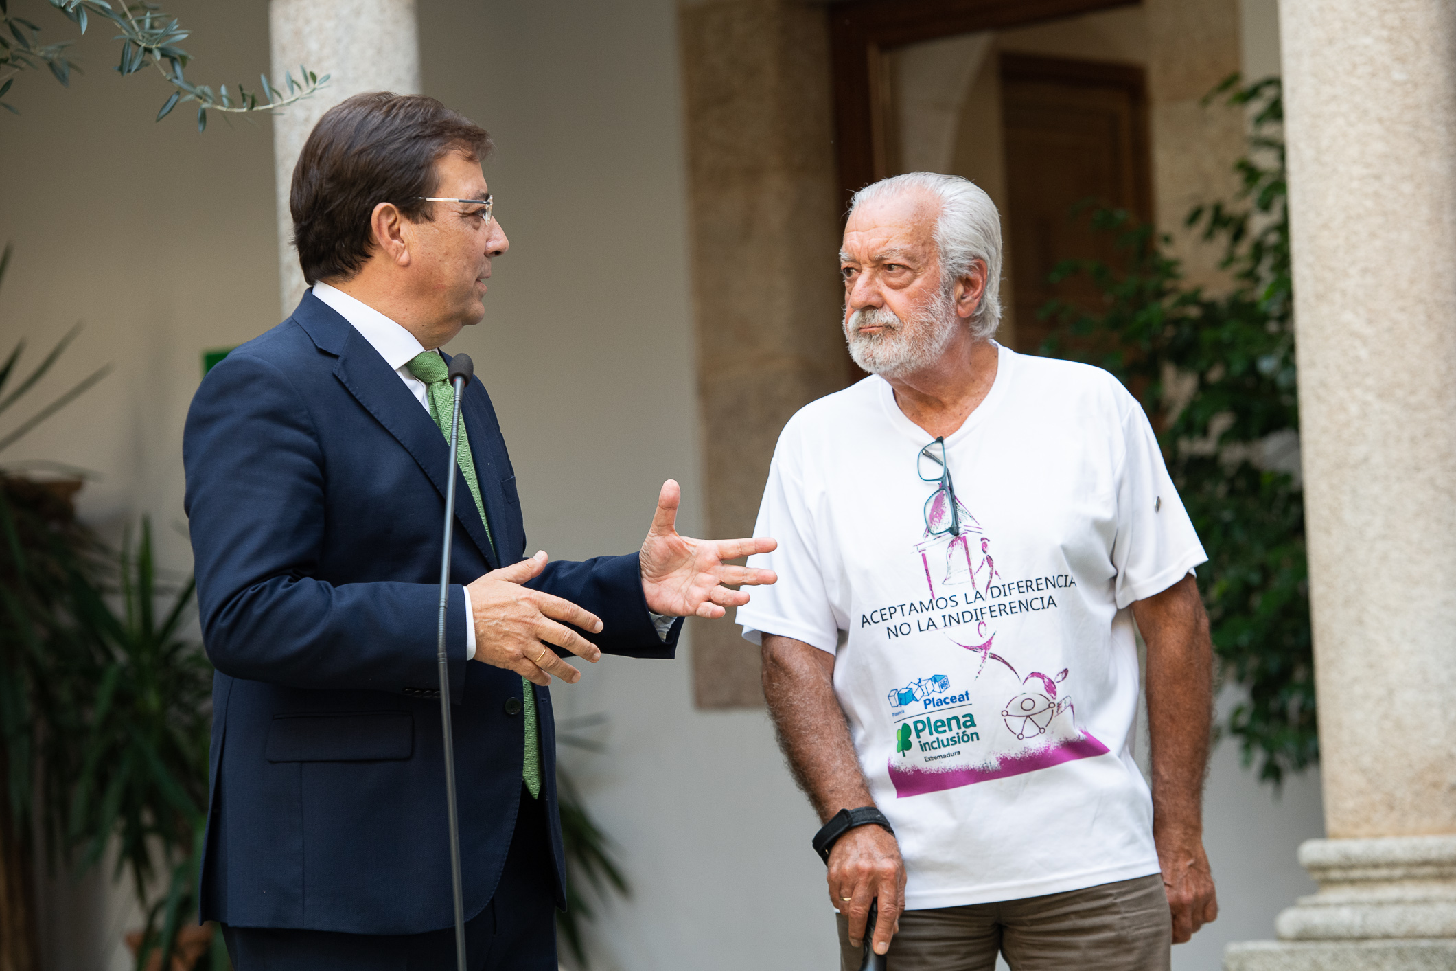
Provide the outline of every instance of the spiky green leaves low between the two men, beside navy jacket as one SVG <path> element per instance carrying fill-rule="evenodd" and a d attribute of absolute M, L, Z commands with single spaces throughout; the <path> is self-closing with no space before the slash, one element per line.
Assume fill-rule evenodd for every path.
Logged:
<path fill-rule="evenodd" d="M 601 745 L 582 734 L 582 729 L 601 725 L 604 715 L 587 716 L 558 726 L 556 740 L 562 745 L 601 751 Z M 577 967 L 590 968 L 587 958 L 585 927 L 582 922 L 596 917 L 585 884 L 596 897 L 606 898 L 613 891 L 623 897 L 632 892 L 626 876 L 612 859 L 612 839 L 603 833 L 587 811 L 579 790 L 556 761 L 556 796 L 561 808 L 561 837 L 566 853 L 566 910 L 556 913 L 556 935 L 565 940 Z"/>

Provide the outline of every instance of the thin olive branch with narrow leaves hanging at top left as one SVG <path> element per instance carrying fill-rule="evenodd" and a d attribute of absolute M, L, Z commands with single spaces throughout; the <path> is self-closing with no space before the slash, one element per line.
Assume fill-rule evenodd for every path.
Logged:
<path fill-rule="evenodd" d="M 121 60 L 116 73 L 122 77 L 135 74 L 146 67 L 156 67 L 173 92 L 157 112 L 157 121 L 166 118 L 179 103 L 197 102 L 197 130 L 207 130 L 207 112 L 243 114 L 252 111 L 275 111 L 309 98 L 328 83 L 329 76 L 319 77 L 306 67 L 298 67 L 298 80 L 293 73 L 284 73 L 284 90 L 277 89 L 268 76 L 259 76 L 261 92 L 249 92 L 237 84 L 236 95 L 229 95 L 227 84 L 213 90 L 208 84 L 194 84 L 186 80 L 186 67 L 192 55 L 178 47 L 189 36 L 153 3 L 116 3 L 108 0 L 47 0 L 55 10 L 86 33 L 90 17 L 102 17 L 121 33 Z M 15 76 L 25 70 L 50 68 L 61 84 L 70 84 L 71 71 L 80 66 L 71 60 L 71 41 L 41 44 L 41 28 L 9 10 L 9 0 L 0 0 L 0 106 L 19 114 L 15 105 L 4 100 Z M 261 95 L 261 100 L 259 100 Z"/>

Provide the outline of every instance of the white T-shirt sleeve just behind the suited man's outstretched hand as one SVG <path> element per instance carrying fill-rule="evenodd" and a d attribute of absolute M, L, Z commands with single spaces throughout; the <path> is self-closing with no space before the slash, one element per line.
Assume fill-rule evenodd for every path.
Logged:
<path fill-rule="evenodd" d="M 772 536 L 779 547 L 748 558 L 748 566 L 772 569 L 779 579 L 772 587 L 750 588 L 753 600 L 738 607 L 734 622 L 743 625 L 744 639 L 754 643 L 763 643 L 766 633 L 776 633 L 834 654 L 839 625 L 824 588 L 808 496 L 795 470 L 798 463 L 785 456 L 785 438 L 789 438 L 788 432 L 779 440 L 769 466 L 769 482 L 753 530 L 754 536 Z"/>

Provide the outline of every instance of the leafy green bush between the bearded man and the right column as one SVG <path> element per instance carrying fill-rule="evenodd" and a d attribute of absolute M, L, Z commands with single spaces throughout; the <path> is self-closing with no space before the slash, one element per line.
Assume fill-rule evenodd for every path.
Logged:
<path fill-rule="evenodd" d="M 1278 785 L 1318 760 L 1315 681 L 1299 483 L 1264 457 L 1299 428 L 1289 207 L 1278 79 L 1216 92 L 1251 112 L 1235 204 L 1201 205 L 1187 224 L 1224 246 L 1227 293 L 1184 282 L 1171 240 L 1121 210 L 1092 223 L 1115 234 L 1120 265 L 1066 261 L 1053 281 L 1088 274 L 1093 310 L 1063 301 L 1042 348 L 1105 367 L 1139 395 L 1160 429 L 1169 472 L 1208 553 L 1198 584 L 1227 677 L 1248 690 L 1227 731 L 1245 764 Z"/>

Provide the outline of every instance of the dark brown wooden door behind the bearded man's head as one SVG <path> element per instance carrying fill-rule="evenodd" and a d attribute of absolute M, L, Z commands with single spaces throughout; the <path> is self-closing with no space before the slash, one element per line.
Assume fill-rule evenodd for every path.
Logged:
<path fill-rule="evenodd" d="M 1002 54 L 1002 119 L 1006 148 L 1008 263 L 1012 271 L 1016 349 L 1035 354 L 1054 322 L 1038 319 L 1057 297 L 1093 307 L 1096 290 L 1083 277 L 1053 287 L 1063 259 L 1115 263 L 1107 233 L 1091 229 L 1092 201 L 1152 213 L 1143 68 Z"/>

